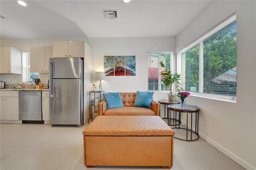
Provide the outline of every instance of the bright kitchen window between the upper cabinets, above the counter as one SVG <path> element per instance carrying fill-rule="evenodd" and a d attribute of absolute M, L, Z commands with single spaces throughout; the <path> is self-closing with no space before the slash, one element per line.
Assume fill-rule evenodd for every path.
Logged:
<path fill-rule="evenodd" d="M 22 52 L 22 81 L 34 82 L 38 73 L 30 73 L 30 52 Z"/>

